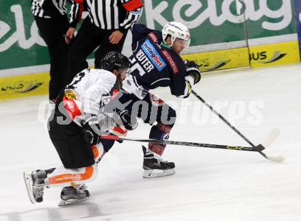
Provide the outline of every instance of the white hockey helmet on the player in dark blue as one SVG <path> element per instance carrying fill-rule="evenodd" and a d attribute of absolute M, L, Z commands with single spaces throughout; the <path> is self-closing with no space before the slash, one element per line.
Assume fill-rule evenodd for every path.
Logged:
<path fill-rule="evenodd" d="M 176 38 L 180 38 L 185 40 L 185 47 L 189 47 L 190 44 L 190 34 L 189 30 L 185 25 L 182 23 L 177 23 L 175 21 L 167 23 L 163 29 L 162 29 L 162 37 L 163 42 L 166 43 L 165 39 L 168 36 L 168 34 L 171 36 L 172 44 L 174 44 L 174 41 Z M 170 46 L 172 46 L 172 44 Z"/>

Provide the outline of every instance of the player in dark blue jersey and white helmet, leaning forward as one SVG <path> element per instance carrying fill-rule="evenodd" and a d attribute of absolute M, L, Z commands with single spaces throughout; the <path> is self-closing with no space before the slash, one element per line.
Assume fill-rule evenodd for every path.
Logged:
<path fill-rule="evenodd" d="M 176 112 L 148 90 L 169 87 L 174 96 L 187 98 L 192 86 L 200 81 L 198 65 L 180 57 L 181 51 L 189 46 L 189 30 L 177 22 L 167 23 L 162 31 L 134 24 L 132 34 L 131 75 L 124 81 L 117 103 L 129 110 L 132 117 L 138 116 L 153 125 L 149 138 L 166 140 L 174 126 Z M 116 103 L 114 105 L 116 107 Z M 122 108 L 120 112 L 124 111 Z M 144 178 L 174 174 L 174 163 L 161 158 L 165 147 L 155 143 L 149 143 L 147 149 L 142 146 Z"/>

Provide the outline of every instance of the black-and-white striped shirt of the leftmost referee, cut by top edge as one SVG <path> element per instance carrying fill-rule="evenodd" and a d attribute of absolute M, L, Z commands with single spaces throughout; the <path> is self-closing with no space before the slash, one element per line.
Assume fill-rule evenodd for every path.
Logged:
<path fill-rule="evenodd" d="M 31 12 L 41 18 L 66 14 L 66 0 L 31 0 Z"/>

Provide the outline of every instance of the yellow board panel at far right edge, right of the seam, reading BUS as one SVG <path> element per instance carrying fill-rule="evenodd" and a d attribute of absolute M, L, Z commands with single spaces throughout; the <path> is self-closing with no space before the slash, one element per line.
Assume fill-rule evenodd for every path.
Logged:
<path fill-rule="evenodd" d="M 283 42 L 250 47 L 252 68 L 300 62 L 298 42 Z"/>

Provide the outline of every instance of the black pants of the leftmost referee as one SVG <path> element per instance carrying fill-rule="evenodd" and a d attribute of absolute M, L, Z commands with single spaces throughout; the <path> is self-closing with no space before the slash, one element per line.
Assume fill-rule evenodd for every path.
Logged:
<path fill-rule="evenodd" d="M 57 97 L 67 81 L 68 44 L 64 34 L 69 28 L 68 16 L 40 18 L 35 16 L 40 34 L 46 42 L 50 57 L 49 99 Z"/>

